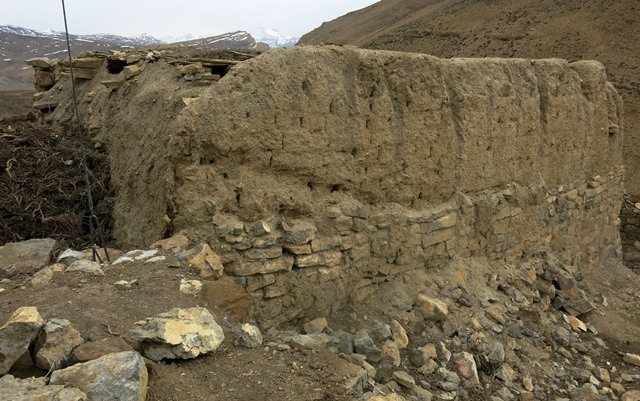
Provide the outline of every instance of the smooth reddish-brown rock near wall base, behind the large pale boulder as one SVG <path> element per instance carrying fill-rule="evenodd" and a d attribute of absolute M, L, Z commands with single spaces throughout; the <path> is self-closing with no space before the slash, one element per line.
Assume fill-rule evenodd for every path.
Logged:
<path fill-rule="evenodd" d="M 245 321 L 251 312 L 251 296 L 234 283 L 225 280 L 205 281 L 209 304 L 221 309 L 236 322 Z"/>

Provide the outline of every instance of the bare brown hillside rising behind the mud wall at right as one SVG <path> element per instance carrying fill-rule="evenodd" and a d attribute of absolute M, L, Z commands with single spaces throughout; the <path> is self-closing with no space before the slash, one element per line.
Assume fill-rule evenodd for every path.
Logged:
<path fill-rule="evenodd" d="M 595 59 L 625 101 L 626 186 L 640 194 L 640 3 L 637 0 L 382 0 L 304 35 L 438 57 Z"/>

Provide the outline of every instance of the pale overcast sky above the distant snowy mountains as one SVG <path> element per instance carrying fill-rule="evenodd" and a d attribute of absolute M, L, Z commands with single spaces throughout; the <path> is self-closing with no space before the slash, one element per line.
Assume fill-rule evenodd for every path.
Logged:
<path fill-rule="evenodd" d="M 65 0 L 73 34 L 209 36 L 261 27 L 301 36 L 376 0 Z M 64 31 L 62 0 L 0 0 L 0 25 Z"/>

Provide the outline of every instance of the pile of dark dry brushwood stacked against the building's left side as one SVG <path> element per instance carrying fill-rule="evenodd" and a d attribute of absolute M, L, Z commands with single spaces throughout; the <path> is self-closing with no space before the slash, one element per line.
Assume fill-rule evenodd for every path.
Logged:
<path fill-rule="evenodd" d="M 83 161 L 89 167 L 94 214 L 108 233 L 106 155 L 70 129 L 30 123 L 0 126 L 0 243 L 50 237 L 87 244 Z"/>

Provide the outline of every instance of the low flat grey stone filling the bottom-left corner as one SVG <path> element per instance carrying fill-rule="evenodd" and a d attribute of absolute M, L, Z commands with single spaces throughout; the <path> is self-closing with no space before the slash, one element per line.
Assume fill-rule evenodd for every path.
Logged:
<path fill-rule="evenodd" d="M 0 400 L 7 401 L 86 401 L 87 395 L 77 388 L 49 385 L 44 377 L 18 379 L 0 377 Z"/>

